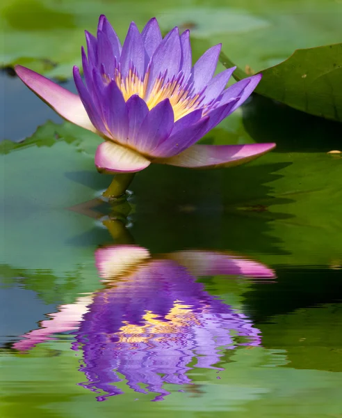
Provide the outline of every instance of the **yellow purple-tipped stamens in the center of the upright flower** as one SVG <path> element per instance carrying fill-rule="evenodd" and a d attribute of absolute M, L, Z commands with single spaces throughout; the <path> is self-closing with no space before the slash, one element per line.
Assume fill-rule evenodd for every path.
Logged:
<path fill-rule="evenodd" d="M 166 75 L 161 75 L 161 77 L 156 79 L 154 86 L 152 86 L 149 92 L 147 92 L 148 71 L 144 79 L 140 79 L 135 69 L 129 70 L 127 77 L 123 77 L 121 72 L 116 70 L 114 79 L 126 102 L 132 95 L 137 94 L 145 100 L 147 107 L 151 110 L 158 103 L 169 99 L 174 111 L 174 121 L 178 121 L 201 107 L 201 102 L 204 98 L 202 94 L 193 94 L 190 88 L 187 88 L 186 83 L 184 86 L 184 76 L 182 74 L 171 79 L 166 77 Z"/>

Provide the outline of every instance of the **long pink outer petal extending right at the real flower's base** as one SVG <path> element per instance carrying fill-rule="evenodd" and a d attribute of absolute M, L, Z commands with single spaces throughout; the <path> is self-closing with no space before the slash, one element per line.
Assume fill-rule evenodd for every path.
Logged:
<path fill-rule="evenodd" d="M 233 167 L 254 160 L 275 148 L 275 144 L 194 145 L 171 158 L 158 159 L 158 164 L 170 164 L 190 169 Z"/>

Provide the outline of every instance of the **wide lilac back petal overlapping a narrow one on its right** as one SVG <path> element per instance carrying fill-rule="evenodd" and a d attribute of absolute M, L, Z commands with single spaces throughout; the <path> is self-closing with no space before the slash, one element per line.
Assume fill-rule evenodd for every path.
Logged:
<path fill-rule="evenodd" d="M 179 73 L 181 64 L 181 41 L 178 28 L 172 29 L 161 41 L 152 56 L 151 69 L 149 70 L 149 84 L 147 97 L 152 90 L 159 75 L 168 70 L 168 79 Z"/>

